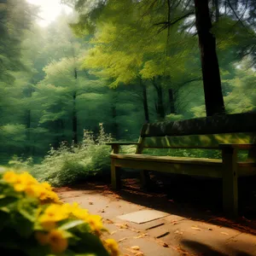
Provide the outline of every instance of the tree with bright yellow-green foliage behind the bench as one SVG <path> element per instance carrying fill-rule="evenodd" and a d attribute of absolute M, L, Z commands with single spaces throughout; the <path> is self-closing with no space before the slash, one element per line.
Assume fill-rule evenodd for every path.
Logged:
<path fill-rule="evenodd" d="M 77 9 L 86 9 L 89 3 L 82 2 L 78 3 Z M 192 73 L 191 67 L 195 68 L 195 65 L 187 65 L 190 68 L 183 69 L 184 61 L 189 62 L 190 54 L 189 50 L 184 51 L 183 47 L 191 48 L 186 42 L 186 33 L 177 32 L 178 22 L 173 26 L 172 31 L 168 32 L 166 30 L 160 32 L 158 26 L 152 27 L 152 23 L 157 23 L 158 20 L 166 17 L 166 5 L 158 9 L 156 16 L 156 13 L 149 13 L 144 15 L 143 19 L 141 15 L 146 11 L 144 3 L 132 3 L 129 0 L 122 3 L 108 1 L 96 4 L 93 8 L 100 10 L 97 12 L 98 20 L 95 16 L 93 16 L 94 20 L 89 20 L 87 16 L 80 15 L 79 23 L 72 25 L 73 30 L 81 34 L 89 30 L 88 22 L 90 22 L 90 31 L 94 29 L 96 32 L 92 40 L 94 48 L 89 51 L 89 56 L 86 56 L 84 67 L 101 77 L 112 78 L 113 83 L 110 86 L 113 87 L 122 83 L 143 85 L 143 109 L 146 122 L 149 121 L 149 116 L 145 84 L 153 85 L 157 98 L 155 111 L 158 119 L 164 119 L 166 104 L 163 90 L 166 90 L 167 86 L 176 87 L 177 71 L 179 79 L 183 77 L 183 73 L 187 73 L 185 76 L 188 78 Z M 95 27 L 96 24 L 99 26 Z M 172 41 L 166 40 L 168 37 L 172 38 Z M 171 79 L 167 81 L 165 77 Z"/>

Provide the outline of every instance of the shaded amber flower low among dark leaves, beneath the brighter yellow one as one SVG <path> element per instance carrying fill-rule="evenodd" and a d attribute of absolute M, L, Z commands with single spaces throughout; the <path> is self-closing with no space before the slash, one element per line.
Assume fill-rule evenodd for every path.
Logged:
<path fill-rule="evenodd" d="M 39 244 L 49 245 L 52 253 L 63 253 L 68 247 L 67 238 L 63 236 L 61 230 L 50 230 L 48 234 L 37 232 L 35 236 Z"/>

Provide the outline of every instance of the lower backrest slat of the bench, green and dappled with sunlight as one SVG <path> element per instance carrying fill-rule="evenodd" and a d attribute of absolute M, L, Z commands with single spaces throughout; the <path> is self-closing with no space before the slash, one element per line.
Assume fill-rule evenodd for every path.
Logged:
<path fill-rule="evenodd" d="M 219 149 L 219 144 L 252 143 L 253 137 L 253 133 L 227 133 L 173 137 L 145 137 L 143 141 L 143 147 Z"/>

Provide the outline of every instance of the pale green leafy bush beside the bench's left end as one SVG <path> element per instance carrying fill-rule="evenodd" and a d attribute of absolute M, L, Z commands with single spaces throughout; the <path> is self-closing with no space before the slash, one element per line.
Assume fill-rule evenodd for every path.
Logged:
<path fill-rule="evenodd" d="M 90 131 L 84 131 L 82 143 L 71 147 L 67 143 L 61 143 L 60 148 L 50 148 L 39 165 L 32 166 L 31 160 L 22 161 L 19 158 L 9 161 L 9 165 L 28 170 L 41 182 L 61 187 L 106 170 L 110 172 L 110 147 L 106 143 L 111 140 L 111 136 L 105 133 L 100 124 L 97 137 L 93 137 Z"/>

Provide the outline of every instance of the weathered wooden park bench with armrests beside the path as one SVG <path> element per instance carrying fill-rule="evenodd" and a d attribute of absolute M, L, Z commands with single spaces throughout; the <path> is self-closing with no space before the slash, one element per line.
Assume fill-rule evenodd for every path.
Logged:
<path fill-rule="evenodd" d="M 218 115 L 207 118 L 145 124 L 137 143 L 108 143 L 112 146 L 113 189 L 120 189 L 120 168 L 141 170 L 143 187 L 148 171 L 169 172 L 223 180 L 224 212 L 237 214 L 237 177 L 256 175 L 256 113 Z M 135 154 L 119 154 L 121 145 L 137 145 Z M 218 149 L 221 159 L 154 156 L 144 148 Z M 238 161 L 239 150 L 247 150 L 247 160 Z"/>

